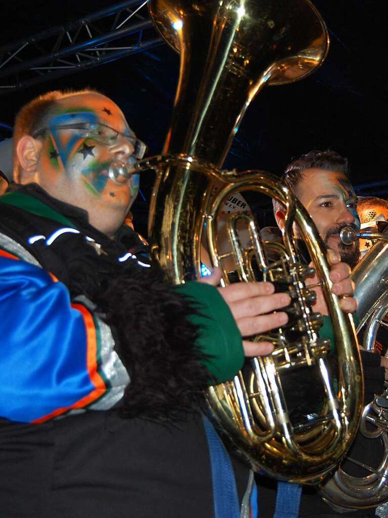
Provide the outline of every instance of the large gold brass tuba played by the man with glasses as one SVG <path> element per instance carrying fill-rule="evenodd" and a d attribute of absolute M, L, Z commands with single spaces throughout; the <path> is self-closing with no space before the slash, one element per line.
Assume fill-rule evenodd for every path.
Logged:
<path fill-rule="evenodd" d="M 290 192 L 261 171 L 237 173 L 220 167 L 255 94 L 265 84 L 306 77 L 321 64 L 328 50 L 326 27 L 308 0 L 150 0 L 149 9 L 157 30 L 180 52 L 173 119 L 163 154 L 137 165 L 139 170 L 156 171 L 149 218 L 152 256 L 173 283 L 198 278 L 205 221 L 214 265 L 220 260 L 213 224 L 227 196 L 254 190 L 279 199 L 287 208 L 288 232 L 279 261 L 267 264 L 257 240 L 248 255 L 253 253 L 264 277 L 276 278 L 292 292 L 300 339 L 288 343 L 284 331 L 278 330 L 274 353 L 253 359 L 250 386 L 240 373 L 234 381 L 212 387 L 207 398 L 215 419 L 255 468 L 293 481 L 317 480 L 347 450 L 361 411 L 362 376 L 352 324 L 330 292 L 317 231 Z M 212 199 L 216 180 L 222 188 Z M 313 294 L 304 283 L 308 271 L 295 252 L 294 221 L 324 279 L 340 344 L 337 395 L 325 361 L 329 344 L 319 339 L 320 315 L 311 310 Z M 248 225 L 256 235 L 253 221 Z M 236 257 L 239 262 L 238 252 Z M 243 261 L 239 275 L 252 280 L 251 267 Z M 325 391 L 322 411 L 314 424 L 294 429 L 279 372 L 314 365 Z"/>

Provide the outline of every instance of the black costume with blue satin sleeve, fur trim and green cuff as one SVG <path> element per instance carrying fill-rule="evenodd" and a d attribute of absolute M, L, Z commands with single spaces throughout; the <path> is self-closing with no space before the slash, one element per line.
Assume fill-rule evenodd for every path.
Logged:
<path fill-rule="evenodd" d="M 113 241 L 36 185 L 16 194 L 0 200 L 1 516 L 213 518 L 202 391 L 243 361 L 218 291 L 181 294 L 130 228 Z"/>

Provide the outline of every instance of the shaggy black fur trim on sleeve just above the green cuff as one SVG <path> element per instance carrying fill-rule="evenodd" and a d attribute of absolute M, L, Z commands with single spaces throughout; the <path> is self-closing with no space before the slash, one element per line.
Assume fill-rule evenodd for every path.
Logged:
<path fill-rule="evenodd" d="M 116 328 L 131 378 L 122 415 L 179 420 L 198 409 L 210 379 L 195 345 L 197 327 L 188 319 L 197 309 L 161 281 L 162 272 L 131 270 L 105 282 L 94 300 Z"/>

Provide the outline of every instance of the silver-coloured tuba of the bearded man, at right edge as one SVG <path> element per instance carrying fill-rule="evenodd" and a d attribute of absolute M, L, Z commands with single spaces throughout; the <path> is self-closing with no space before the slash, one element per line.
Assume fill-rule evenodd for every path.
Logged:
<path fill-rule="evenodd" d="M 373 351 L 379 327 L 388 327 L 384 320 L 388 314 L 388 231 L 356 233 L 349 227 L 342 229 L 341 233 L 344 244 L 355 239 L 368 239 L 375 243 L 352 272 L 360 318 L 357 333 L 363 331 L 363 347 Z M 373 508 L 388 501 L 387 382 L 383 393 L 377 394 L 364 407 L 359 430 L 367 439 L 381 443 L 382 456 L 376 467 L 362 464 L 368 472 L 365 477 L 351 476 L 341 463 L 333 476 L 325 481 L 321 486 L 322 497 L 337 510 Z M 357 459 L 347 458 L 359 464 Z"/>

